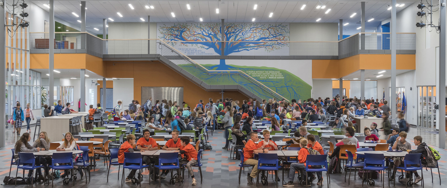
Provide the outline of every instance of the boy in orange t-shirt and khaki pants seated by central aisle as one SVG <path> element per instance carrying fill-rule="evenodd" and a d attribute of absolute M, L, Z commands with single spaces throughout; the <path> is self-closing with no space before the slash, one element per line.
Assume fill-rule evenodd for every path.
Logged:
<path fill-rule="evenodd" d="M 257 159 L 253 159 L 253 154 L 269 153 L 269 150 L 262 150 L 262 147 L 258 147 L 255 142 L 259 140 L 257 132 L 250 132 L 250 140 L 247 141 L 244 147 L 244 164 L 253 166 L 251 174 L 247 176 L 247 183 L 253 184 L 253 178 L 257 175 Z"/>

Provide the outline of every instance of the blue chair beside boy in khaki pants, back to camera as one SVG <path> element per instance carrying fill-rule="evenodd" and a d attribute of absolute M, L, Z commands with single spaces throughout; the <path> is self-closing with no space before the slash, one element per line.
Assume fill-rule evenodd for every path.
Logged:
<path fill-rule="evenodd" d="M 259 170 L 262 171 L 262 174 L 264 174 L 264 171 L 275 171 L 275 181 L 278 180 L 278 170 L 282 169 L 283 167 L 278 166 L 278 154 L 258 154 L 258 160 L 257 160 L 257 176 L 256 176 L 256 186 L 259 182 Z M 262 164 L 262 166 L 261 166 Z M 284 177 L 284 171 L 283 171 L 283 177 Z M 278 182 L 276 182 L 276 187 L 278 187 Z"/>

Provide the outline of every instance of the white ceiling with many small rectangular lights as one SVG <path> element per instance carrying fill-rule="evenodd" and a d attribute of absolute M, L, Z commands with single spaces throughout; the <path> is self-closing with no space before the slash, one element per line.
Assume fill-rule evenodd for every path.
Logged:
<path fill-rule="evenodd" d="M 48 1 L 32 0 L 35 4 L 44 10 L 48 10 L 43 4 Z M 147 22 L 148 15 L 151 16 L 151 22 L 199 22 L 202 17 L 203 22 L 337 22 L 343 19 L 344 23 L 349 25 L 343 27 L 343 34 L 352 35 L 360 32 L 360 0 L 310 0 L 310 1 L 287 1 L 287 0 L 270 0 L 270 1 L 217 1 L 217 0 L 177 0 L 177 1 L 149 1 L 148 0 L 85 0 L 86 7 L 86 25 L 97 28 L 96 34 L 102 34 L 102 19 L 112 18 L 115 22 L 142 22 L 143 18 Z M 397 12 L 405 9 L 416 0 L 399 1 L 398 4 L 405 4 L 403 7 L 397 7 Z M 135 9 L 131 9 L 128 4 L 132 4 Z M 186 8 L 186 4 L 190 4 L 191 9 Z M 257 4 L 257 9 L 253 6 Z M 304 10 L 300 8 L 306 4 Z M 319 4 L 326 5 L 325 9 L 316 9 Z M 389 0 L 369 0 L 365 4 L 366 20 L 375 18 L 374 21 L 367 22 L 365 26 L 366 32 L 372 32 L 380 21 L 391 17 L 391 10 L 387 10 L 391 2 Z M 146 9 L 145 5 L 152 5 L 154 9 Z M 219 8 L 219 14 L 215 9 Z M 331 11 L 325 14 L 327 9 Z M 79 24 L 72 12 L 80 15 L 80 1 L 77 0 L 57 0 L 55 1 L 55 17 L 59 17 L 72 24 Z M 117 12 L 123 17 L 119 17 Z M 171 16 L 171 13 L 175 17 Z M 269 14 L 273 13 L 272 17 Z M 350 15 L 357 13 L 354 17 Z M 32 16 L 32 13 L 30 13 Z M 110 20 L 107 20 L 110 21 Z"/>

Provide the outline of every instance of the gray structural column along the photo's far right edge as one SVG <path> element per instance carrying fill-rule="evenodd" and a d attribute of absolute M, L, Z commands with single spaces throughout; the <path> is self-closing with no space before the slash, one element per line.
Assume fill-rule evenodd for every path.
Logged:
<path fill-rule="evenodd" d="M 438 109 L 438 121 L 436 121 L 437 127 L 439 128 L 439 132 L 445 132 L 445 120 L 444 115 L 446 114 L 445 104 L 446 104 L 446 92 L 444 90 L 446 85 L 446 32 L 447 32 L 447 21 L 446 21 L 446 7 L 443 6 L 443 3 L 445 3 L 446 0 L 441 0 L 441 3 L 439 4 L 440 9 L 440 17 L 441 17 L 441 33 L 439 34 L 439 68 L 438 68 L 438 75 L 439 75 L 439 82 L 438 85 L 436 85 L 437 88 L 437 104 L 439 104 Z M 439 148 L 446 148 L 446 135 L 445 134 L 439 134 Z"/>

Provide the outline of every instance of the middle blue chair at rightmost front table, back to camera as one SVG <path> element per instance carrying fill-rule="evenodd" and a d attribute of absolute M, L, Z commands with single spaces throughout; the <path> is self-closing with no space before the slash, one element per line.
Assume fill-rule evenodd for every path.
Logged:
<path fill-rule="evenodd" d="M 385 157 L 384 154 L 367 154 L 365 155 L 365 162 L 363 163 L 363 170 L 370 170 L 370 171 L 385 171 L 388 167 L 385 166 Z M 382 179 L 382 187 L 385 187 L 385 181 L 384 181 L 384 172 L 380 173 L 381 179 Z M 369 173 L 368 173 L 369 175 Z M 363 177 L 364 178 L 364 177 Z M 389 173 L 388 173 L 389 178 Z M 365 181 L 362 181 L 362 187 L 363 183 Z M 374 184 L 374 180 L 368 179 L 368 183 L 372 182 Z M 388 181 L 388 186 L 389 186 Z"/>

